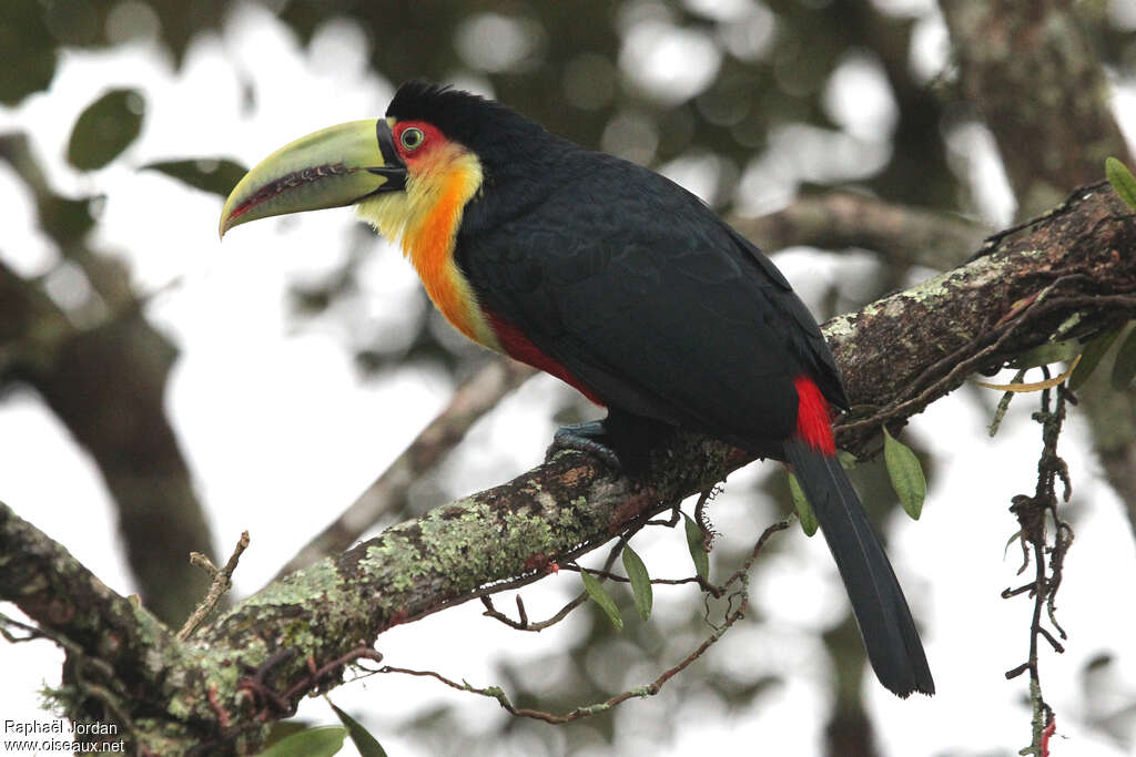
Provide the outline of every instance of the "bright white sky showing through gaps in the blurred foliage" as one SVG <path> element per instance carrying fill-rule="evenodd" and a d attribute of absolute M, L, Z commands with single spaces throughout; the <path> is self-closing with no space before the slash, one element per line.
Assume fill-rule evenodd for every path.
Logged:
<path fill-rule="evenodd" d="M 934 18 L 921 23 L 933 24 Z M 651 48 L 658 40 L 684 44 L 662 27 L 652 28 L 642 32 L 642 40 L 630 40 L 628 50 L 638 44 Z M 358 44 L 343 43 L 344 39 Z M 361 36 L 341 24 L 325 28 L 304 50 L 269 14 L 245 8 L 234 16 L 224 37 L 195 41 L 181 72 L 144 43 L 105 53 L 73 53 L 64 58 L 50 92 L 30 98 L 18 109 L 0 109 L 0 131 L 31 134 L 59 191 L 106 193 L 106 215 L 93 242 L 130 261 L 140 291 L 182 278 L 153 301 L 148 314 L 183 352 L 168 409 L 220 549 L 227 550 L 242 529 L 252 535 L 236 575 L 239 595 L 258 588 L 350 504 L 443 405 L 452 387 L 446 377 L 416 369 L 364 382 L 344 345 L 342 320 L 321 317 L 296 330 L 287 317 L 287 286 L 333 269 L 345 254 L 353 225 L 350 211 L 250 225 L 231 234 L 222 246 L 216 235 L 219 199 L 135 168 L 151 160 L 197 155 L 231 155 L 251 165 L 298 135 L 381 113 L 392 86 L 365 73 L 359 44 Z M 671 77 L 668 81 L 687 77 L 683 82 L 688 84 L 702 72 L 716 69 L 711 60 L 703 68 L 655 75 Z M 887 128 L 894 118 L 888 110 L 894 103 L 878 89 L 877 74 L 870 59 L 850 59 L 828 93 L 829 107 L 846 131 L 787 127 L 799 131 L 775 137 L 778 151 L 755 159 L 743 182 L 766 193 L 758 205 L 783 202 L 797 180 L 813 178 L 809 166 L 827 170 L 836 166 L 852 175 L 862 170 L 862 162 L 844 169 L 830 157 L 812 157 L 818 149 L 850 152 L 861 161 L 864 154 L 869 161 L 877 159 L 868 149 L 872 127 Z M 242 112 L 239 77 L 251 78 L 256 89 L 251 113 Z M 76 175 L 64 160 L 70 125 L 110 86 L 144 92 L 143 133 L 110 167 Z M 1118 103 L 1127 103 L 1121 117 L 1129 133 L 1136 121 L 1136 98 L 1130 92 L 1130 85 L 1118 83 Z M 850 102 L 868 103 L 870 112 L 858 112 Z M 992 168 L 985 157 L 992 154 L 988 141 L 984 148 L 980 134 L 955 140 L 966 145 L 959 149 L 978 151 L 975 170 L 986 171 L 977 176 L 979 185 L 996 185 L 996 160 Z M 695 191 L 700 182 L 712 186 L 696 166 L 673 168 L 669 173 L 688 180 Z M 7 167 L 0 167 L 0 204 L 6 208 L 0 225 L 6 262 L 25 275 L 49 270 L 55 253 L 34 229 L 30 201 Z M 1003 192 L 988 197 L 982 211 L 996 221 L 1012 213 L 1012 201 L 1006 204 Z M 807 300 L 821 295 L 826 277 L 843 279 L 855 271 L 854 264 L 837 270 L 832 258 L 808 251 L 783 254 L 778 263 L 791 280 L 809 279 L 811 287 L 799 287 Z M 409 308 L 417 286 L 410 267 L 379 241 L 364 267 L 362 285 L 369 295 L 365 316 L 376 319 L 387 309 Z M 446 465 L 453 486 L 475 490 L 537 462 L 553 430 L 548 409 L 561 390 L 551 379 L 531 382 L 478 424 Z M 1028 712 L 1021 704 L 1025 679 L 1006 682 L 1002 672 L 1026 654 L 1029 603 L 1003 602 L 999 592 L 1020 582 L 1014 575 L 1019 553 L 1011 548 L 1003 556 L 1014 530 L 1006 507 L 1012 495 L 1033 489 L 1039 430 L 1028 419 L 1031 398 L 1019 398 L 992 441 L 985 435 L 988 413 L 977 412 L 974 402 L 959 396 L 963 394 L 936 403 L 905 431 L 935 451 L 937 474 L 921 521 L 897 516 L 889 524 L 889 552 L 924 624 L 939 693 L 901 701 L 869 682 L 868 704 L 887 755 L 1016 754 L 1028 742 Z M 988 405 L 996 399 L 991 395 Z M 1118 704 L 1126 696 L 1130 701 L 1136 654 L 1127 641 L 1136 609 L 1131 603 L 1117 602 L 1113 589 L 1105 587 L 1116 587 L 1118 575 L 1136 573 L 1136 554 L 1120 503 L 1101 482 L 1100 466 L 1088 453 L 1089 440 L 1076 409 L 1071 414 L 1061 452 L 1074 478 L 1070 512 L 1077 539 L 1059 600 L 1070 639 L 1066 655 L 1043 654 L 1043 683 L 1059 714 L 1062 737 L 1054 741 L 1053 754 L 1116 757 L 1126 749 L 1085 729 L 1086 695 L 1079 675 L 1093 656 L 1113 654 L 1116 678 L 1092 696 L 1105 701 L 1118 697 Z M 753 465 L 738 473 L 711 511 L 715 523 L 728 535 L 724 538 L 735 546 L 751 542 L 771 520 L 767 504 L 736 493 L 744 493 L 747 481 L 772 468 Z M 66 545 L 112 588 L 123 594 L 133 590 L 97 471 L 30 394 L 0 404 L 0 499 Z M 754 577 L 753 600 L 770 621 L 742 624 L 692 673 L 749 679 L 772 670 L 786 673 L 786 684 L 760 697 L 747 712 L 732 712 L 717 701 L 685 701 L 675 741 L 661 754 L 710 749 L 752 754 L 755 745 L 761 745 L 762 754 L 818 752 L 819 727 L 832 703 L 830 671 L 815 632 L 840 620 L 844 594 L 820 539 L 805 539 L 794 529 L 782 540 L 787 548 Z M 655 529 L 637 537 L 635 546 L 652 574 L 688 572 L 679 532 Z M 554 609 L 576 590 L 576 581 L 562 574 L 526 589 L 531 614 L 540 615 L 542 607 Z M 511 602 L 502 597 L 501 605 Z M 685 614 L 692 602 L 698 602 L 693 592 L 659 590 L 655 612 Z M 381 638 L 378 648 L 392 664 L 429 667 L 481 685 L 499 682 L 494 678 L 499 656 L 515 663 L 541 661 L 552 685 L 563 670 L 545 657 L 585 631 L 583 621 L 576 621 L 542 634 L 523 634 L 479 613 L 479 605 L 471 603 L 396 628 Z M 465 646 L 452 644 L 456 630 Z M 470 649 L 494 651 L 471 655 Z M 676 649 L 675 659 L 686 653 Z M 36 691 L 42 681 L 58 680 L 60 659 L 48 644 L 0 646 L 6 672 L 0 720 L 43 717 L 36 709 Z M 612 681 L 612 692 L 657 673 L 628 671 Z M 636 730 L 637 713 L 678 696 L 679 687 L 673 687 L 655 700 L 619 708 L 619 754 L 649 750 Z M 333 698 L 369 724 L 391 755 L 403 757 L 428 752 L 426 742 L 396 730 L 399 722 L 438 703 L 459 708 L 475 729 L 495 729 L 506 717 L 492 701 L 417 680 L 370 679 L 336 690 Z M 318 701 L 306 704 L 301 715 L 329 718 Z M 1129 745 L 1134 737 L 1128 733 Z M 536 754 L 533 749 L 521 745 L 517 754 Z"/>

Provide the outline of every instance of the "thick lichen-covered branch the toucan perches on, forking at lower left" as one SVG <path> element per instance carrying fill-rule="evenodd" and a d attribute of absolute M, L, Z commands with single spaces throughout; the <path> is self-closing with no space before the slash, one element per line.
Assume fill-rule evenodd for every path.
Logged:
<path fill-rule="evenodd" d="M 967 266 L 826 325 L 855 413 L 853 452 L 972 370 L 1136 316 L 1136 224 L 1106 187 L 989 241 Z M 383 631 L 538 580 L 745 464 L 680 435 L 637 480 L 566 452 L 512 481 L 387 529 L 296 571 L 186 642 L 114 595 L 59 545 L 0 507 L 0 599 L 68 650 L 68 716 L 118 721 L 156 754 L 253 749 L 265 722 L 340 682 Z M 341 664 L 342 663 L 342 664 Z M 269 696 L 270 695 L 270 696 Z"/>

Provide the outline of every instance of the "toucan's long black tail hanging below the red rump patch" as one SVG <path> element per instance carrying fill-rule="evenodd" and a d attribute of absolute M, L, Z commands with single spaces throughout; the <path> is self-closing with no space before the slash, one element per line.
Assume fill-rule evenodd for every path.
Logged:
<path fill-rule="evenodd" d="M 834 455 L 797 438 L 785 444 L 785 457 L 836 560 L 879 682 L 900 697 L 935 693 L 903 589 L 844 469 Z"/>

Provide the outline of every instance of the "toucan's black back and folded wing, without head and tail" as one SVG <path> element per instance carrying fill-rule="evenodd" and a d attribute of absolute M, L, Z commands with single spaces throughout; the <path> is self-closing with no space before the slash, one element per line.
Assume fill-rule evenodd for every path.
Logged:
<path fill-rule="evenodd" d="M 608 406 L 763 456 L 783 459 L 794 430 L 794 377 L 846 405 L 816 321 L 753 245 L 662 176 L 552 150 L 559 180 L 525 191 L 526 212 L 466 208 L 456 254 L 483 308 Z M 494 185 L 494 201 L 512 207 L 510 190 Z"/>

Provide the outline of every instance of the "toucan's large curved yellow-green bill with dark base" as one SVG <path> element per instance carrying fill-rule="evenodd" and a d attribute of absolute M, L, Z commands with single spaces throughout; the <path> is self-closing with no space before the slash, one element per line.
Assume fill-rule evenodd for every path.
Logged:
<path fill-rule="evenodd" d="M 244 175 L 225 201 L 220 235 L 269 216 L 350 205 L 406 187 L 386 119 L 340 124 L 300 137 Z"/>

